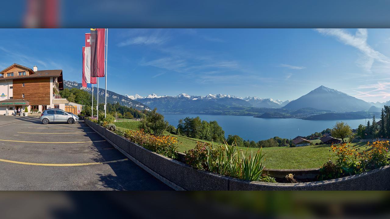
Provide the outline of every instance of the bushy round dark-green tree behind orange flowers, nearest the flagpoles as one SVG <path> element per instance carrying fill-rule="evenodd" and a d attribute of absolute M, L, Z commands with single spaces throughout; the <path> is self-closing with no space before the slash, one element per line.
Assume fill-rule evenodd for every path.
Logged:
<path fill-rule="evenodd" d="M 152 133 L 156 136 L 162 135 L 168 127 L 168 122 L 164 121 L 164 116 L 157 113 L 157 108 L 154 108 L 147 117 L 141 121 L 139 128 L 144 129 L 147 133 Z"/>

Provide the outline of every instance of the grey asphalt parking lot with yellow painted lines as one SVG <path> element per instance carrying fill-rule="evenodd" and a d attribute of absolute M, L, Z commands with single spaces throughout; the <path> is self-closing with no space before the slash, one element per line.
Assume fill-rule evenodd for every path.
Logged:
<path fill-rule="evenodd" d="M 0 117 L 0 190 L 171 190 L 84 122 Z"/>

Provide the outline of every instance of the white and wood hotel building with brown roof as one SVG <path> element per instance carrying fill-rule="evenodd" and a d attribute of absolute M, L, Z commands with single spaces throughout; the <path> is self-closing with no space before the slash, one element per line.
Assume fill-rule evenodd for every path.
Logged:
<path fill-rule="evenodd" d="M 8 109 L 12 115 L 15 108 L 24 110 L 26 106 L 28 112 L 59 108 L 79 113 L 80 105 L 61 98 L 60 90 L 64 90 L 62 70 L 38 71 L 36 66 L 30 69 L 12 64 L 0 72 L 0 114 L 5 115 L 5 109 Z"/>

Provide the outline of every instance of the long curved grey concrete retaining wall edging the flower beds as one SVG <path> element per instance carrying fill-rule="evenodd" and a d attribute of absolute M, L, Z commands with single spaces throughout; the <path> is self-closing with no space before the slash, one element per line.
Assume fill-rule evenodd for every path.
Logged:
<path fill-rule="evenodd" d="M 250 182 L 201 171 L 182 162 L 170 159 L 85 120 L 96 132 L 114 145 L 132 161 L 177 190 L 389 190 L 390 166 L 334 180 L 306 183 Z M 268 170 L 270 171 L 270 170 Z M 272 170 L 271 170 L 272 171 Z M 291 173 L 291 170 L 286 170 Z M 295 174 L 299 175 L 298 170 Z M 316 169 L 313 169 L 316 171 Z M 281 171 L 283 172 L 283 171 Z M 288 174 L 286 172 L 286 174 Z M 285 173 L 280 173 L 286 175 Z M 294 173 L 293 173 L 294 174 Z M 297 177 L 298 178 L 298 177 Z"/>

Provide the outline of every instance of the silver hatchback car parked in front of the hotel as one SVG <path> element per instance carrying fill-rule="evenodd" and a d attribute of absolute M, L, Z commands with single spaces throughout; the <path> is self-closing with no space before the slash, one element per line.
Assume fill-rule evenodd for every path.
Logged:
<path fill-rule="evenodd" d="M 46 109 L 41 114 L 42 124 L 48 124 L 49 122 L 67 122 L 73 124 L 78 121 L 78 116 L 73 113 L 68 113 L 62 109 Z"/>

